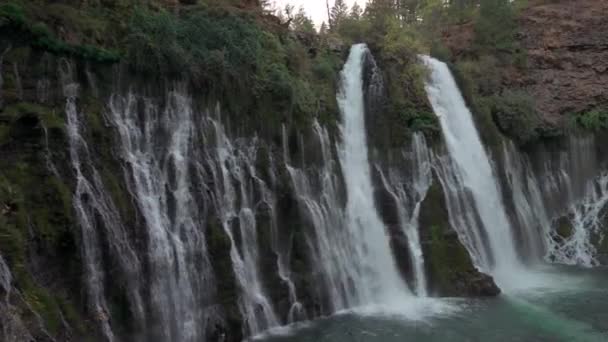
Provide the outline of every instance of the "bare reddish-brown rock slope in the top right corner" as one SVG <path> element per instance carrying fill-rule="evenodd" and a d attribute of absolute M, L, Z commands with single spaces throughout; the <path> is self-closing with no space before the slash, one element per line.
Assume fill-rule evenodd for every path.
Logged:
<path fill-rule="evenodd" d="M 608 2 L 536 1 L 522 9 L 516 41 L 527 62 L 503 70 L 502 86 L 523 89 L 545 124 L 608 105 Z M 455 60 L 470 52 L 473 24 L 450 28 L 444 41 Z"/>

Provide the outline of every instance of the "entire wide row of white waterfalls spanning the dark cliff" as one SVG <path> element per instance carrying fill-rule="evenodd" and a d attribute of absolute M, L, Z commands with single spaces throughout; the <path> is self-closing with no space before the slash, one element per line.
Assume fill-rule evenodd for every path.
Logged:
<path fill-rule="evenodd" d="M 420 316 L 433 300 L 414 294 L 435 294 L 437 281 L 427 248 L 436 237 L 419 222 L 435 188 L 448 211 L 442 220 L 499 285 L 521 281 L 533 263 L 598 264 L 591 241 L 601 235 L 608 176 L 593 153 L 578 152 L 594 150 L 592 139 L 573 137 L 556 158 L 541 151 L 538 163 L 506 139 L 491 155 L 448 67 L 425 57 L 444 139 L 427 144 L 415 133 L 392 164 L 368 146 L 367 58 L 367 47 L 354 45 L 342 70 L 339 134 L 316 120 L 302 130 L 285 124 L 278 147 L 281 139 L 231 130 L 219 105 L 199 107 L 183 84 L 161 95 L 114 89 L 103 119 L 115 134 L 112 162 L 122 173 L 112 176 L 127 210 L 63 61 L 86 306 L 106 340 L 125 338 L 117 297 L 134 341 L 240 339 L 361 307 Z M 10 288 L 0 258 L 0 290 Z"/>

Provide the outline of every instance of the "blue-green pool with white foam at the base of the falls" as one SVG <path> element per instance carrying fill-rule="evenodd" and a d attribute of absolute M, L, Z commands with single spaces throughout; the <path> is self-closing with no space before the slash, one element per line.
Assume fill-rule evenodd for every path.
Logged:
<path fill-rule="evenodd" d="M 274 331 L 260 340 L 608 341 L 608 268 L 545 267 L 534 275 L 546 283 L 507 290 L 492 299 L 436 300 L 434 305 L 421 305 L 436 309 L 428 315 L 407 309 L 404 315 L 395 310 L 341 313 Z"/>

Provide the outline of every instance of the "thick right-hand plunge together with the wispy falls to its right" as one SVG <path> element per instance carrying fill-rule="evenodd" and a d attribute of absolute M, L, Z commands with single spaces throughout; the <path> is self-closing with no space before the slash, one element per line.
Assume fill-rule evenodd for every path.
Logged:
<path fill-rule="evenodd" d="M 600 234 L 608 197 L 592 139 L 571 137 L 569 149 L 557 158 L 541 151 L 540 160 L 545 162 L 540 167 L 505 140 L 505 195 L 496 162 L 484 149 L 448 66 L 430 57 L 422 59 L 431 71 L 426 90 L 448 151 L 447 156 L 435 157 L 435 169 L 445 190 L 450 223 L 477 266 L 508 288 L 534 282 L 525 264 L 596 264 L 591 240 Z M 558 235 L 558 219 L 572 227 L 569 236 Z"/>

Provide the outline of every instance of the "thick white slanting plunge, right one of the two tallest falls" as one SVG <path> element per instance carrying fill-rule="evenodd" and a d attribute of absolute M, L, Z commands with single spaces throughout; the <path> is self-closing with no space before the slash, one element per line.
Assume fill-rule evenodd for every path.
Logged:
<path fill-rule="evenodd" d="M 448 66 L 430 57 L 423 57 L 423 60 L 431 70 L 426 90 L 439 117 L 452 172 L 462 182 L 463 190 L 470 192 L 482 227 L 481 232 L 463 227 L 458 230 L 465 232 L 467 239 L 475 245 L 474 250 L 479 254 L 475 258 L 480 263 L 478 266 L 491 272 L 499 281 L 514 279 L 522 264 L 496 175 L 471 112 Z M 487 246 L 481 245 L 484 239 L 487 239 Z"/>

